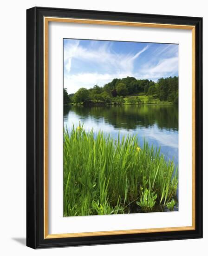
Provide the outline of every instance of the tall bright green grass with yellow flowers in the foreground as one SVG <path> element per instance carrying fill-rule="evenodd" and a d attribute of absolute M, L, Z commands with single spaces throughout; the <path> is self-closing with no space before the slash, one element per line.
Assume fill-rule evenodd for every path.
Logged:
<path fill-rule="evenodd" d="M 135 136 L 97 137 L 83 127 L 64 134 L 64 216 L 173 209 L 177 169 Z"/>

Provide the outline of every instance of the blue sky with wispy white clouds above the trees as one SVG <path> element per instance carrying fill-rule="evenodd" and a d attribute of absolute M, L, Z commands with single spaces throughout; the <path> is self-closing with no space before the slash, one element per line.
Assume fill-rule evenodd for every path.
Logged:
<path fill-rule="evenodd" d="M 114 78 L 134 76 L 157 81 L 178 76 L 178 45 L 64 39 L 64 88 L 104 86 Z"/>

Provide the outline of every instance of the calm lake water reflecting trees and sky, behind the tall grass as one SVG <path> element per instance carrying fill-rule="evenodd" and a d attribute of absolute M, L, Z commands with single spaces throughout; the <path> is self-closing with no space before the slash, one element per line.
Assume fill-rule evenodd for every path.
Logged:
<path fill-rule="evenodd" d="M 84 129 L 97 133 L 103 131 L 115 139 L 120 135 L 136 135 L 150 145 L 161 147 L 167 160 L 178 165 L 178 106 L 124 105 L 109 107 L 64 107 L 64 126 L 84 123 Z"/>

